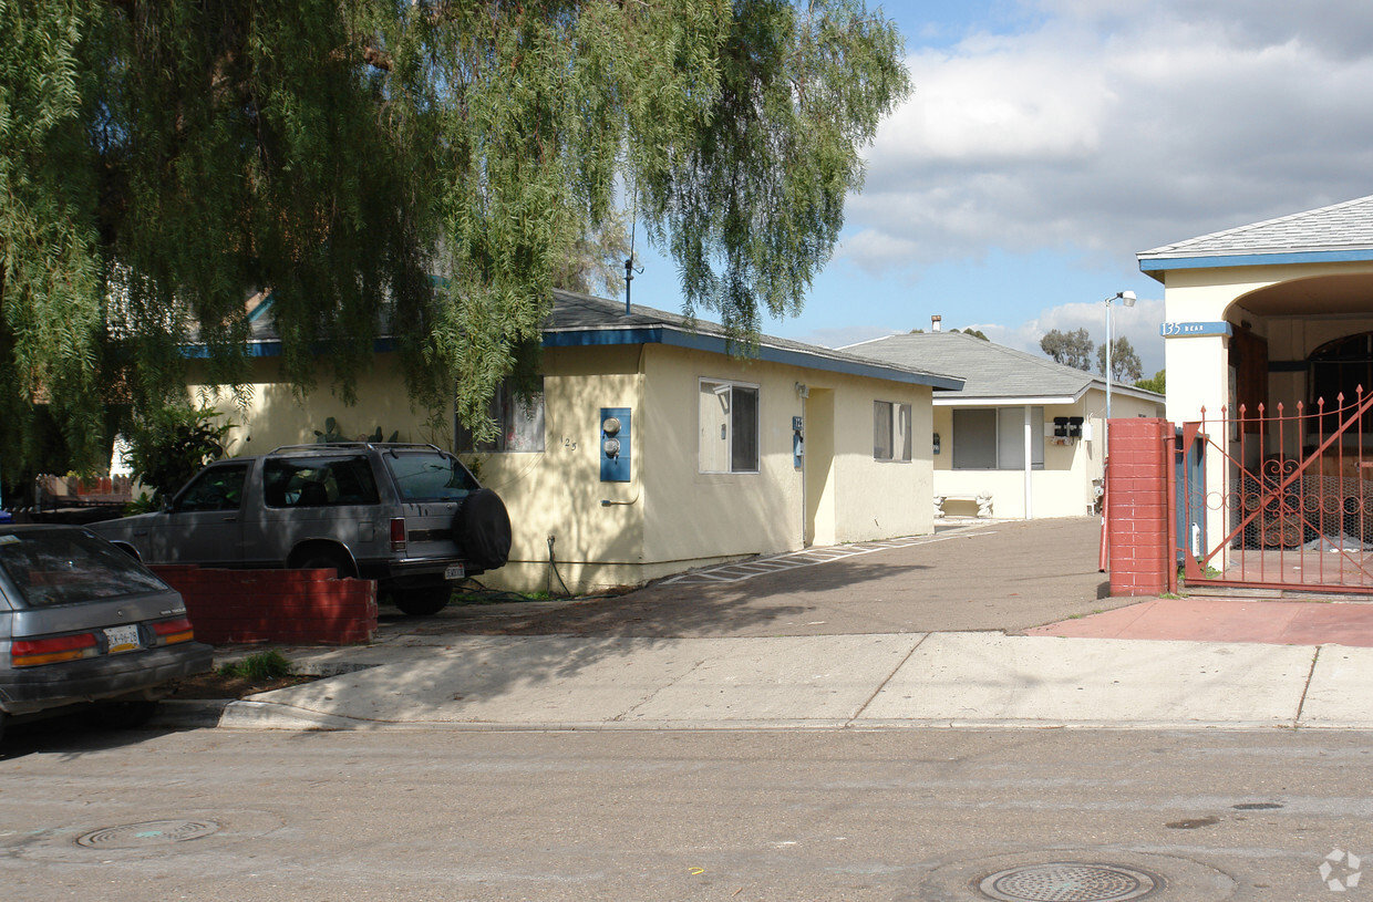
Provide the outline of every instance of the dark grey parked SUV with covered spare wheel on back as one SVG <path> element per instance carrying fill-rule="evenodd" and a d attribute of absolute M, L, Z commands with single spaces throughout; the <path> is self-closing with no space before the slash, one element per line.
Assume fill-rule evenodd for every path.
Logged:
<path fill-rule="evenodd" d="M 210 464 L 157 513 L 91 526 L 148 564 L 332 567 L 406 614 L 509 557 L 505 504 L 434 445 L 288 445 Z"/>

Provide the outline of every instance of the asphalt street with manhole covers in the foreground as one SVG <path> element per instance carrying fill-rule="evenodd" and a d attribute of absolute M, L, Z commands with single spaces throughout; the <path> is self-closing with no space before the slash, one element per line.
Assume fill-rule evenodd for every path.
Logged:
<path fill-rule="evenodd" d="M 978 887 L 1013 872 L 1037 877 L 1022 899 L 1141 898 L 1103 892 L 1142 879 L 1151 902 L 1357 899 L 1373 890 L 1333 895 L 1321 868 L 1373 861 L 1370 754 L 1368 733 L 1295 730 L 54 725 L 0 759 L 0 886 L 7 902 L 986 902 Z"/>

